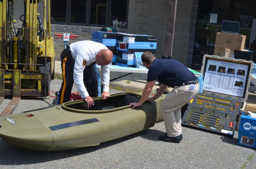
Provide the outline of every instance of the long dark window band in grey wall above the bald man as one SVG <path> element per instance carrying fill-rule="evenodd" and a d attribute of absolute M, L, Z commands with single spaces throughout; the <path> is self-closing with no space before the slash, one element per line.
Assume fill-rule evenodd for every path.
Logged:
<path fill-rule="evenodd" d="M 51 22 L 127 28 L 129 0 L 51 0 Z"/>

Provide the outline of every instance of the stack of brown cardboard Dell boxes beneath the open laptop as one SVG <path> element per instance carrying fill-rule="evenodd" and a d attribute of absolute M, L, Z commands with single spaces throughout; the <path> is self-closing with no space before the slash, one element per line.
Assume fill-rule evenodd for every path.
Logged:
<path fill-rule="evenodd" d="M 241 51 L 245 47 L 245 35 L 217 33 L 214 55 L 233 58 L 235 50 Z"/>

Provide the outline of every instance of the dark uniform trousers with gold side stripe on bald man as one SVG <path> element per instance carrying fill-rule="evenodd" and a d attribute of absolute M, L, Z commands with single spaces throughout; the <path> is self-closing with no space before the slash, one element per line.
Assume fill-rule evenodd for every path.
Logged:
<path fill-rule="evenodd" d="M 60 55 L 62 68 L 62 84 L 59 91 L 59 104 L 69 102 L 72 86 L 74 83 L 73 72 L 75 60 L 71 56 L 70 48 L 64 49 Z M 95 63 L 94 63 L 95 64 Z M 90 97 L 98 96 L 98 81 L 94 64 L 84 68 L 84 85 Z"/>

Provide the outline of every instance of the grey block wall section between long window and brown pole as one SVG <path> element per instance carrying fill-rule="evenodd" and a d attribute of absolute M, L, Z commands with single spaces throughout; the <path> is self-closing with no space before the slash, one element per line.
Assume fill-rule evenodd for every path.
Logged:
<path fill-rule="evenodd" d="M 157 36 L 156 57 L 165 52 L 169 0 L 129 0 L 128 33 Z"/>

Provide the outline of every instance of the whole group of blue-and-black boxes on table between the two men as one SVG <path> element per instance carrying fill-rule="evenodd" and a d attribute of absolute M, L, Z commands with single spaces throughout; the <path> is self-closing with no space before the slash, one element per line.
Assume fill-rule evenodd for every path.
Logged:
<path fill-rule="evenodd" d="M 103 43 L 113 52 L 112 65 L 136 67 L 135 52 L 156 53 L 157 37 L 139 34 L 93 32 L 92 40 Z"/>

